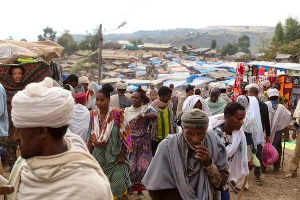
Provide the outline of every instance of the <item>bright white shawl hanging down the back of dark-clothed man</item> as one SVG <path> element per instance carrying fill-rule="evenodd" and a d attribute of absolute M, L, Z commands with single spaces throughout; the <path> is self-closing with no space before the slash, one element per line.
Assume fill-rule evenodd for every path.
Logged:
<path fill-rule="evenodd" d="M 259 104 L 258 100 L 255 96 L 248 96 L 249 97 L 249 111 L 254 116 L 257 126 L 258 126 L 258 132 L 257 132 L 257 144 L 263 144 L 264 143 L 264 134 L 261 124 L 261 118 L 260 118 L 260 111 L 259 111 Z"/>

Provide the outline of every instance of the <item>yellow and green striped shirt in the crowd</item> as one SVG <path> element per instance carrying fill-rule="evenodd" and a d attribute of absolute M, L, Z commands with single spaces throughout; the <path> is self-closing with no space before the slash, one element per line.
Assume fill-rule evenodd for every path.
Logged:
<path fill-rule="evenodd" d="M 164 109 L 159 108 L 157 119 L 157 138 L 156 141 L 162 141 L 168 134 L 170 134 L 170 112 L 168 106 Z"/>

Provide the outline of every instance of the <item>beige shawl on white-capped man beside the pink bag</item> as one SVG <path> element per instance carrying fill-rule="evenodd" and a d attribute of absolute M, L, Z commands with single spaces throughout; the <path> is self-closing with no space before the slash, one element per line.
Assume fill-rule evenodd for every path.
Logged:
<path fill-rule="evenodd" d="M 271 101 L 267 101 L 265 104 L 268 107 L 271 126 L 270 143 L 273 143 L 275 132 L 282 130 L 291 122 L 291 113 L 282 104 L 278 104 L 276 110 L 273 109 Z"/>

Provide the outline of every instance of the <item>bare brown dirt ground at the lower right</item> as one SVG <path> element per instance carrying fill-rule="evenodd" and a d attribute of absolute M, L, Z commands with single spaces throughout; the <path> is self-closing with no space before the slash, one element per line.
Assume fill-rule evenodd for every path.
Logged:
<path fill-rule="evenodd" d="M 253 179 L 253 171 L 250 172 L 248 183 L 249 188 L 244 190 L 241 199 L 251 200 L 297 200 L 300 199 L 300 175 L 298 177 L 287 179 L 285 175 L 289 171 L 289 163 L 292 150 L 285 149 L 284 152 L 284 166 L 283 170 L 273 171 L 272 166 L 268 166 L 266 173 L 261 174 L 262 186 L 257 185 Z M 144 200 L 151 199 L 147 192 L 143 192 L 145 195 Z M 237 199 L 238 194 L 230 191 L 230 199 Z M 130 200 L 138 199 L 136 193 L 133 193 L 129 197 Z"/>

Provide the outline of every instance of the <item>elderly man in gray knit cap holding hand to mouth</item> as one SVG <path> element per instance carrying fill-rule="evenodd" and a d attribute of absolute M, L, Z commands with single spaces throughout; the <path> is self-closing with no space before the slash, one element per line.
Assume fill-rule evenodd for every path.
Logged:
<path fill-rule="evenodd" d="M 168 135 L 156 150 L 142 183 L 152 199 L 221 199 L 226 184 L 226 148 L 208 128 L 202 110 L 181 116 L 182 132 Z"/>

